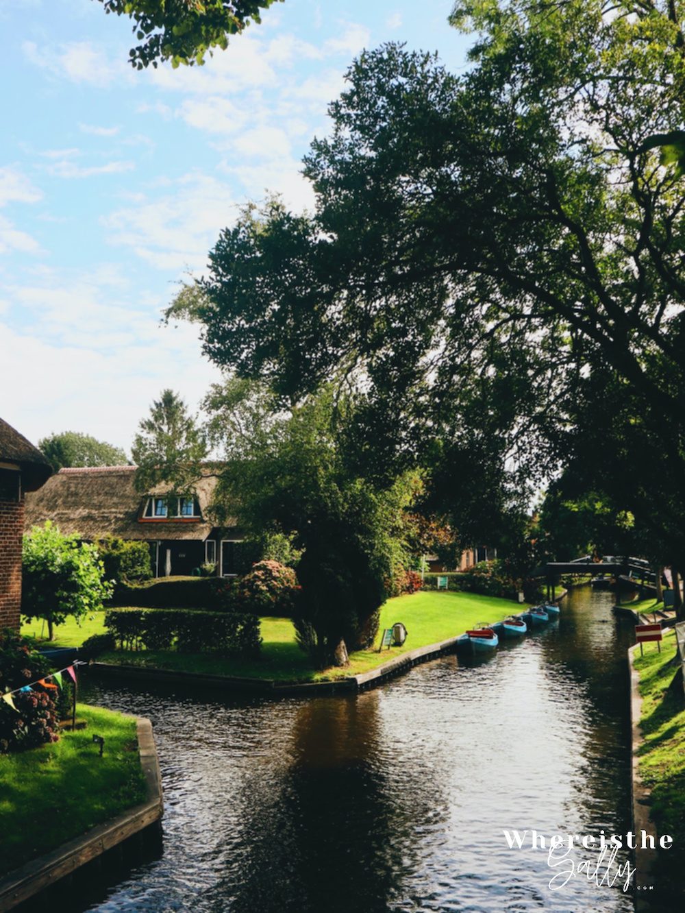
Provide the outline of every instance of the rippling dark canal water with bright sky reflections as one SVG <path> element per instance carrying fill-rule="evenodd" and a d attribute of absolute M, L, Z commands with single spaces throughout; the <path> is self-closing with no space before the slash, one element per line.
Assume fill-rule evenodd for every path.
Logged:
<path fill-rule="evenodd" d="M 71 913 L 631 910 L 620 877 L 553 889 L 558 869 L 530 848 L 532 829 L 630 828 L 631 629 L 613 602 L 578 588 L 558 622 L 494 656 L 447 656 L 358 696 L 89 679 L 84 699 L 152 720 L 163 850 L 85 906 L 72 895 Z M 510 849 L 514 829 L 525 848 Z M 570 856 L 597 867 L 593 851 Z"/>

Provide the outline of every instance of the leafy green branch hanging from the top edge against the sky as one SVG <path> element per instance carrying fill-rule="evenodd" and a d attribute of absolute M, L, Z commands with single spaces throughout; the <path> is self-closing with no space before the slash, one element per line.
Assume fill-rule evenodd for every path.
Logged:
<path fill-rule="evenodd" d="M 106 13 L 130 16 L 140 44 L 130 49 L 130 63 L 142 69 L 163 60 L 202 64 L 207 51 L 225 48 L 228 39 L 250 22 L 260 23 L 260 10 L 275 0 L 99 0 Z M 282 2 L 282 0 L 281 0 Z"/>

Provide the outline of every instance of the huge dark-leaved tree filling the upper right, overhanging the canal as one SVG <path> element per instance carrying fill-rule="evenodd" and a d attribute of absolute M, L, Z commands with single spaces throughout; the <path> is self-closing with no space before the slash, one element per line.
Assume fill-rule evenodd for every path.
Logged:
<path fill-rule="evenodd" d="M 660 536 L 685 503 L 684 9 L 475 0 L 459 77 L 363 54 L 306 157 L 314 215 L 270 201 L 214 247 L 186 307 L 205 352 L 284 399 L 342 373 L 401 446 L 471 437 L 514 494 L 587 452 L 606 390 L 621 507 Z"/>

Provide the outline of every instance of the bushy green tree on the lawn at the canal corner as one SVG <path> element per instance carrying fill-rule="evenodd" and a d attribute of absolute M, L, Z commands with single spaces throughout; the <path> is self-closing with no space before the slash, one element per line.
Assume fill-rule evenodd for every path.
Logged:
<path fill-rule="evenodd" d="M 227 462 L 217 487 L 216 513 L 237 518 L 248 536 L 287 531 L 301 557 L 298 614 L 315 633 L 320 666 L 344 662 L 347 650 L 368 646 L 393 572 L 406 557 L 406 509 L 421 487 L 407 471 L 377 483 L 351 470 L 337 435 L 335 413 L 348 408 L 330 388 L 291 412 L 263 408 L 261 392 L 235 400 L 227 412 L 249 413 L 249 436 L 226 421 Z M 218 389 L 213 402 L 221 401 Z M 261 419 L 260 419 L 261 415 Z"/>

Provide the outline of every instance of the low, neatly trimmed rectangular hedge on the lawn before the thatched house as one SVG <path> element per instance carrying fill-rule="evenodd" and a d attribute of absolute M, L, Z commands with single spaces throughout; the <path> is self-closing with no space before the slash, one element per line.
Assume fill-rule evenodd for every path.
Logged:
<path fill-rule="evenodd" d="M 109 609 L 105 627 L 122 649 L 256 656 L 262 638 L 254 614 L 183 609 Z"/>

